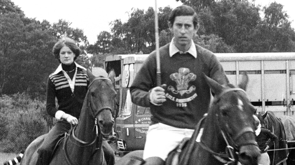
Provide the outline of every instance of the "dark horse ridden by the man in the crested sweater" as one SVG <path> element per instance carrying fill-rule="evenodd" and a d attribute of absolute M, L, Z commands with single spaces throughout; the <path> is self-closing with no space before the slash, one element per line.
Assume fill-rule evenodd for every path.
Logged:
<path fill-rule="evenodd" d="M 182 147 L 172 151 L 167 165 L 257 165 L 260 150 L 255 141 L 255 108 L 245 93 L 248 76 L 239 88 L 222 86 L 204 76 L 215 93 L 208 115 L 199 122 L 193 136 Z M 169 138 L 169 137 L 167 137 Z M 137 157 L 135 157 L 137 156 Z M 139 164 L 142 151 L 124 156 L 119 164 Z"/>

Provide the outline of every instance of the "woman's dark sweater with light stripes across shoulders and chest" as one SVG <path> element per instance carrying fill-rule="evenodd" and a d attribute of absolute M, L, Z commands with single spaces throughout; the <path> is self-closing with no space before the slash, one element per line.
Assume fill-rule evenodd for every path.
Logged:
<path fill-rule="evenodd" d="M 61 66 L 71 80 L 73 80 L 76 71 L 75 68 L 77 69 L 74 92 L 72 92 L 63 71 L 50 74 L 47 81 L 46 110 L 53 117 L 55 117 L 55 113 L 58 110 L 62 110 L 67 114 L 79 118 L 89 85 L 86 69 L 79 66 L 76 67 L 74 62 L 69 66 L 63 64 Z M 58 109 L 55 105 L 55 98 L 58 101 Z"/>

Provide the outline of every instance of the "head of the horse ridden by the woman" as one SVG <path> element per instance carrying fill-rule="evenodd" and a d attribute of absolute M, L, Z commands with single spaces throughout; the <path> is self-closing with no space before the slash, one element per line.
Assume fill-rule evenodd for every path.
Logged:
<path fill-rule="evenodd" d="M 93 117 L 99 126 L 100 132 L 104 138 L 112 137 L 112 128 L 114 117 L 112 111 L 116 109 L 116 91 L 110 78 L 95 77 L 88 70 L 90 84 L 88 89 L 88 100 L 92 109 Z M 96 130 L 97 131 L 97 130 Z"/>

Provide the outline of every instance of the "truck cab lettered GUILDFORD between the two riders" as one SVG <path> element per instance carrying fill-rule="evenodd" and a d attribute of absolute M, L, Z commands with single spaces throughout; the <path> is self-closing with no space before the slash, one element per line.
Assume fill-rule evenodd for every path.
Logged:
<path fill-rule="evenodd" d="M 115 131 L 118 151 L 121 153 L 143 149 L 150 124 L 150 108 L 135 105 L 131 101 L 130 86 L 137 71 L 148 55 L 107 56 L 104 68 L 116 73 L 115 89 L 119 101 Z"/>

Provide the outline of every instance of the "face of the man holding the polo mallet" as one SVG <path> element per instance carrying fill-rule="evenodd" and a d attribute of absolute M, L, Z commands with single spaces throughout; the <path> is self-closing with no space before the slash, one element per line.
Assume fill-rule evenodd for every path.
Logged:
<path fill-rule="evenodd" d="M 194 28 L 193 16 L 177 16 L 171 26 L 170 30 L 173 32 L 175 46 L 178 49 L 181 47 L 188 47 L 187 49 L 189 49 L 191 39 L 198 30 L 197 26 Z"/>

